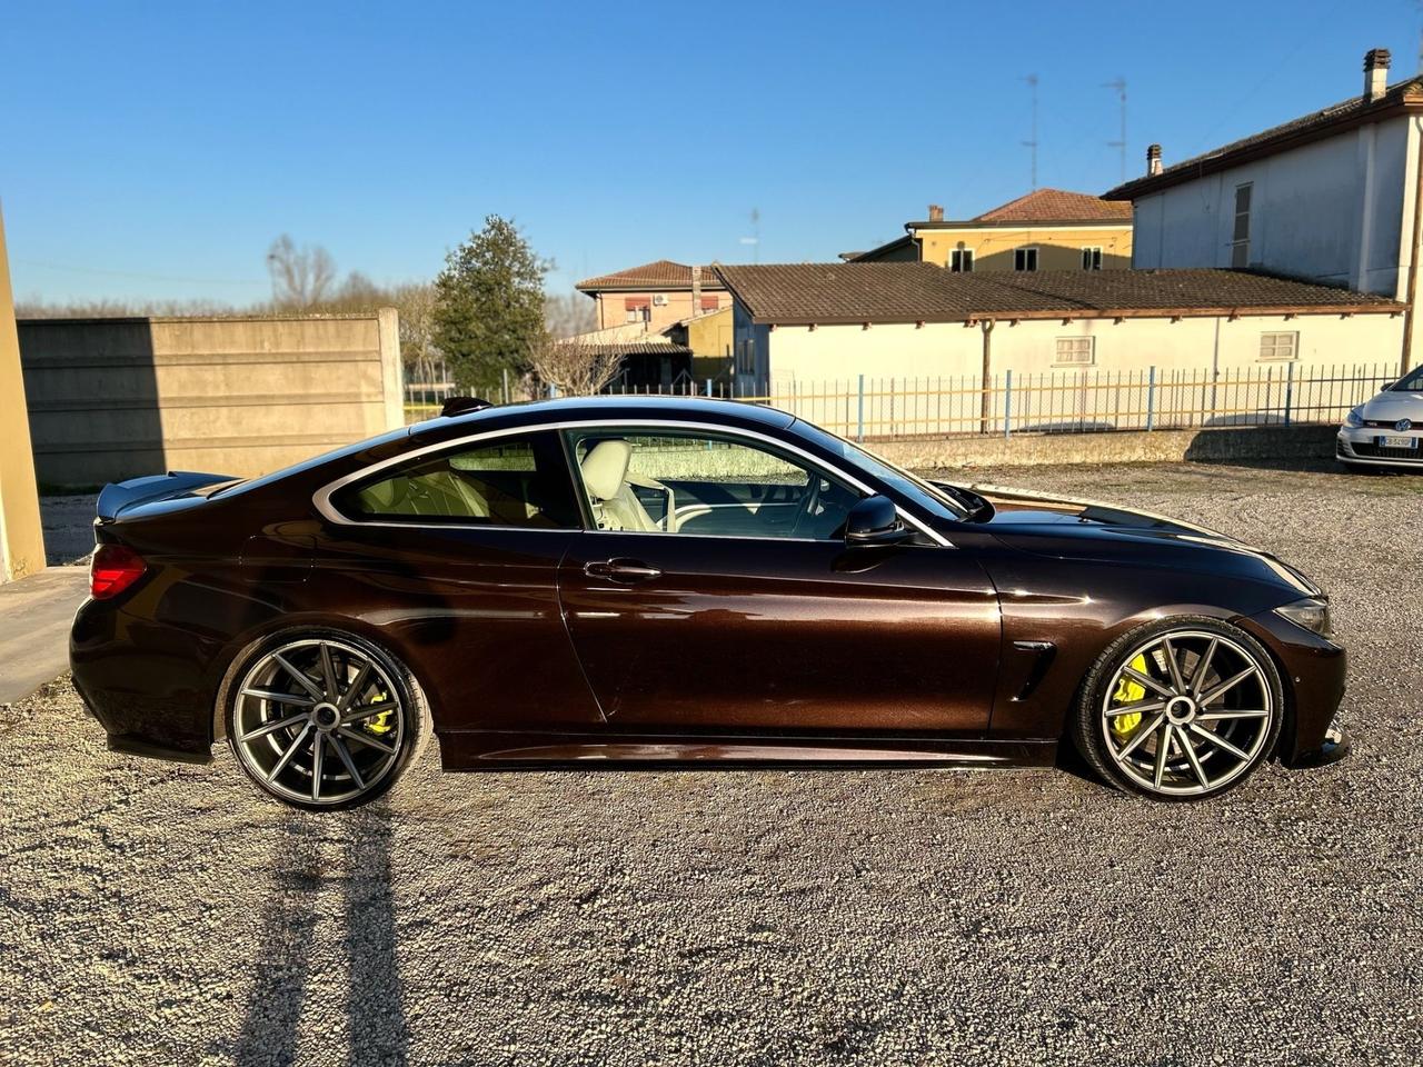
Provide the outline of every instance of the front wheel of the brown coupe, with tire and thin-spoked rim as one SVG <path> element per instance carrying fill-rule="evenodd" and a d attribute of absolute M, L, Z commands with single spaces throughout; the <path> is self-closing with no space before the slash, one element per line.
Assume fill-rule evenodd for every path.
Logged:
<path fill-rule="evenodd" d="M 1187 617 L 1133 630 L 1103 652 L 1073 734 L 1118 788 L 1201 800 L 1268 758 L 1282 720 L 1279 671 L 1259 642 L 1215 619 Z"/>

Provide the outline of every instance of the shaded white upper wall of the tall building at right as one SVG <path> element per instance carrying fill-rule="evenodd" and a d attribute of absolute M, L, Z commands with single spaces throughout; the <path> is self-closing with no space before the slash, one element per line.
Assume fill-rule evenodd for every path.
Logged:
<path fill-rule="evenodd" d="M 1395 118 L 1143 196 L 1133 263 L 1231 266 L 1235 189 L 1249 182 L 1251 266 L 1403 299 L 1417 144 L 1419 120 Z"/>

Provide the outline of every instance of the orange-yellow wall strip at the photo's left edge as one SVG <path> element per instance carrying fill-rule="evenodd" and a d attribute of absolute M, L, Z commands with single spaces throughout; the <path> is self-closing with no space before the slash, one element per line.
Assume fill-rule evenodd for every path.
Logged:
<path fill-rule="evenodd" d="M 10 262 L 0 219 L 0 582 L 44 569 L 40 499 L 30 454 L 20 344 L 10 293 Z"/>

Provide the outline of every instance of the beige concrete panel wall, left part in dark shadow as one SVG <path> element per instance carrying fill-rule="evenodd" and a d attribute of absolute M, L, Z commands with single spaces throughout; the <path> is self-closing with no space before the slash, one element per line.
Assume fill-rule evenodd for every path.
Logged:
<path fill-rule="evenodd" d="M 361 316 L 20 323 L 47 485 L 250 477 L 401 425 L 394 309 Z"/>

